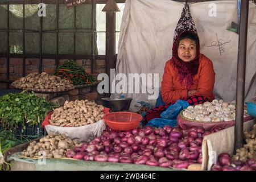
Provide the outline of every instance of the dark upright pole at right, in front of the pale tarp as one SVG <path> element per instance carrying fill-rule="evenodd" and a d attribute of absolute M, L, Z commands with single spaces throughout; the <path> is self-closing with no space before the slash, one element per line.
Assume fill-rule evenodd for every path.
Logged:
<path fill-rule="evenodd" d="M 236 126 L 234 153 L 243 146 L 243 105 L 245 96 L 245 65 L 249 1 L 241 1 L 240 32 L 238 42 L 237 90 L 236 90 Z"/>

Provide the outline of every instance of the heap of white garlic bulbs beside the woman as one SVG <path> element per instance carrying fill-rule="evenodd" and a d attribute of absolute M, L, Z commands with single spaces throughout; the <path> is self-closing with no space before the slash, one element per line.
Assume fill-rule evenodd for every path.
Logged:
<path fill-rule="evenodd" d="M 244 117 L 247 116 L 245 110 Z M 195 106 L 188 106 L 183 111 L 183 117 L 196 122 L 232 121 L 236 118 L 236 106 L 223 100 L 213 100 Z"/>

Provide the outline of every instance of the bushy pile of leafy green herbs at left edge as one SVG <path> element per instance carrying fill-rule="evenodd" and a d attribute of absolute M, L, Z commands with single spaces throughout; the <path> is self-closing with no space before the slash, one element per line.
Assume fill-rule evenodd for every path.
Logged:
<path fill-rule="evenodd" d="M 28 126 L 38 125 L 53 107 L 34 93 L 23 91 L 6 94 L 0 97 L 0 126 L 10 131 L 16 131 L 22 126 L 22 130 L 25 130 L 26 123 Z"/>

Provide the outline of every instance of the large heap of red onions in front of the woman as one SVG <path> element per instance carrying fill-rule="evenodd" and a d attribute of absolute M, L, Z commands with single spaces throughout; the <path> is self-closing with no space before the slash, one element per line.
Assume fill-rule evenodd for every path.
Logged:
<path fill-rule="evenodd" d="M 96 162 L 134 163 L 148 166 L 187 168 L 202 163 L 201 144 L 210 134 L 201 127 L 144 127 L 115 131 L 107 127 L 101 137 L 68 150 L 68 158 Z"/>

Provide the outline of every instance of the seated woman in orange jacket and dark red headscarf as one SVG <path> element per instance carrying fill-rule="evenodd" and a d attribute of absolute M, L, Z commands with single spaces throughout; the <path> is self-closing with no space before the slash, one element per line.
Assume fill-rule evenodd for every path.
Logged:
<path fill-rule="evenodd" d="M 214 99 L 215 73 L 212 61 L 200 53 L 199 37 L 194 31 L 181 31 L 172 47 L 172 59 L 164 67 L 162 90 L 158 100 L 162 105 L 146 114 L 146 121 L 160 118 L 160 113 L 177 100 L 190 105 Z"/>

